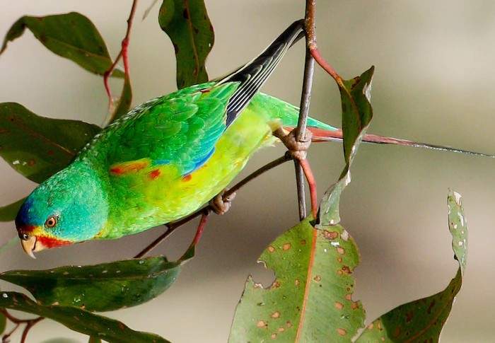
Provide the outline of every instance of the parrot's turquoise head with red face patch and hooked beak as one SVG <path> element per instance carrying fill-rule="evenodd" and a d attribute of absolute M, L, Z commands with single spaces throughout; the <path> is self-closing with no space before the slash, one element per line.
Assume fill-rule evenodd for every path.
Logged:
<path fill-rule="evenodd" d="M 98 175 L 73 163 L 42 182 L 16 216 L 23 250 L 34 252 L 89 240 L 107 219 L 107 198 Z"/>

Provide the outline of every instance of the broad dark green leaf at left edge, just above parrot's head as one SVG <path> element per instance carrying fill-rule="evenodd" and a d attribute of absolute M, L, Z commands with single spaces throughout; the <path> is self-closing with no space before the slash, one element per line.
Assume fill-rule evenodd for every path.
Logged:
<path fill-rule="evenodd" d="M 93 124 L 40 117 L 18 103 L 0 103 L 0 156 L 34 182 L 65 168 L 98 132 Z"/>

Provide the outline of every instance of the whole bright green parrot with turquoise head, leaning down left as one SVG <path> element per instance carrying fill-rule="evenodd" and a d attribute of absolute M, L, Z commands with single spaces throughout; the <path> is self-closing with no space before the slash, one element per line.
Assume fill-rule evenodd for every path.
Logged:
<path fill-rule="evenodd" d="M 34 257 L 47 248 L 132 235 L 209 202 L 255 151 L 277 141 L 272 132 L 297 126 L 298 107 L 259 90 L 301 37 L 303 21 L 296 21 L 221 81 L 149 100 L 105 127 L 25 199 L 16 216 L 25 252 Z M 318 141 L 342 139 L 342 130 L 312 118 L 308 128 Z M 373 135 L 365 140 L 426 146 Z"/>

